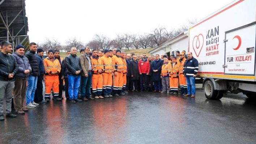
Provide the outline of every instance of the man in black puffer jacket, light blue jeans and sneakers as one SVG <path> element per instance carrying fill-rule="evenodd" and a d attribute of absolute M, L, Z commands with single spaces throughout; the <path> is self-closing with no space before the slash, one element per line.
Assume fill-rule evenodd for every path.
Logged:
<path fill-rule="evenodd" d="M 35 56 L 35 52 L 37 52 L 37 44 L 30 43 L 29 49 L 30 51 L 26 52 L 25 56 L 29 60 L 32 71 L 27 79 L 26 108 L 35 108 L 39 105 L 34 102 L 35 90 L 37 89 L 37 76 L 39 73 L 37 56 Z"/>

